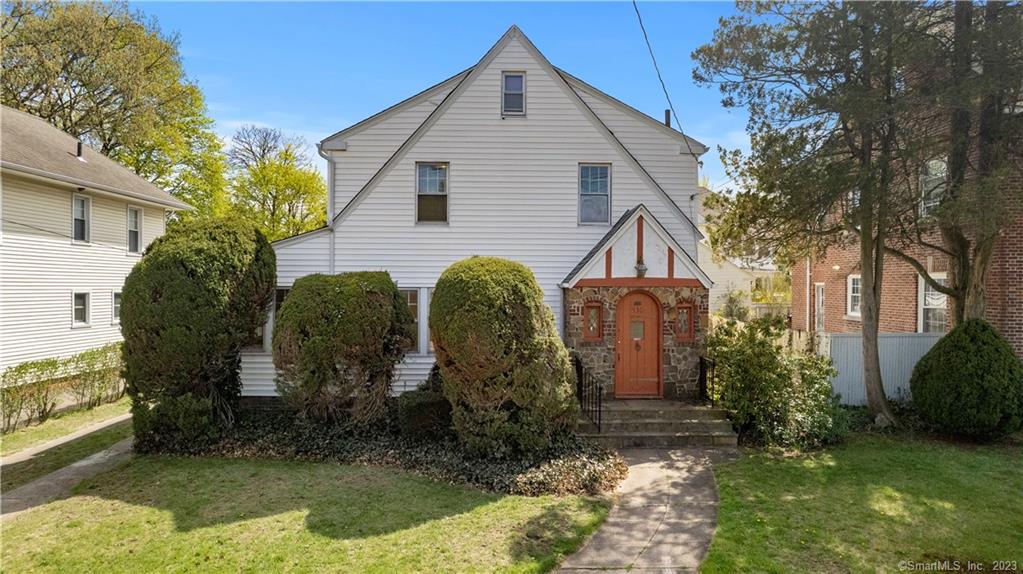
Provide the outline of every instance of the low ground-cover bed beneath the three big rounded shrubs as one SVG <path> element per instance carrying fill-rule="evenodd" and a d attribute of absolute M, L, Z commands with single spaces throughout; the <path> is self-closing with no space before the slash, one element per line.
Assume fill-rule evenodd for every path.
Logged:
<path fill-rule="evenodd" d="M 607 493 L 628 474 L 617 452 L 568 434 L 553 437 L 548 448 L 529 456 L 479 458 L 455 439 L 410 438 L 388 425 L 324 424 L 286 412 L 246 412 L 199 453 L 393 467 L 526 496 Z"/>

